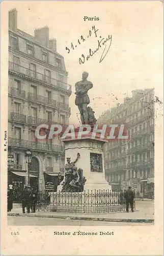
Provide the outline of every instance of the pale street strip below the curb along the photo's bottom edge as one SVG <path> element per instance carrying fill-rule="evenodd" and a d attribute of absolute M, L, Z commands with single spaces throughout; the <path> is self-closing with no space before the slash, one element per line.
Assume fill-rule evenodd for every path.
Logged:
<path fill-rule="evenodd" d="M 8 216 L 10 226 L 150 226 L 152 223 L 123 223 L 107 221 L 85 221 L 55 218 Z"/>

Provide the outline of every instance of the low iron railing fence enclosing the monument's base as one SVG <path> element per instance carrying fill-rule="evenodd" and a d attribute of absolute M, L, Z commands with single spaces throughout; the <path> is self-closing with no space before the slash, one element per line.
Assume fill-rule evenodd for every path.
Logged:
<path fill-rule="evenodd" d="M 125 198 L 121 191 L 88 190 L 81 193 L 49 192 L 40 195 L 38 199 L 36 208 L 44 211 L 76 213 L 126 211 Z M 135 196 L 133 208 L 135 210 Z"/>

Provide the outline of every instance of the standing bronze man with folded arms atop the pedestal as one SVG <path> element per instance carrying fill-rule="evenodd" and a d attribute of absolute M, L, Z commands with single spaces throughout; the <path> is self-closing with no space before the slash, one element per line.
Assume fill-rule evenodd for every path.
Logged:
<path fill-rule="evenodd" d="M 82 80 L 75 83 L 75 105 L 78 106 L 82 124 L 88 123 L 87 105 L 90 103 L 88 91 L 93 87 L 92 82 L 87 80 L 87 72 L 83 72 Z"/>

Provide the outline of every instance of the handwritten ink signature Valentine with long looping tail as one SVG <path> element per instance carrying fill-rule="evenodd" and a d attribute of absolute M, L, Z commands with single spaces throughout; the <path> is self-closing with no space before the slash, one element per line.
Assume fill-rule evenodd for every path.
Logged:
<path fill-rule="evenodd" d="M 101 36 L 100 36 L 101 38 Z M 78 62 L 79 64 L 84 64 L 86 60 L 89 60 L 90 57 L 92 57 L 96 52 L 99 51 L 99 49 L 104 46 L 106 44 L 106 42 L 109 42 L 109 45 L 105 45 L 102 55 L 100 57 L 99 63 L 104 59 L 104 57 L 106 56 L 106 54 L 108 53 L 108 51 L 110 50 L 111 44 L 112 44 L 112 35 L 108 35 L 108 37 L 105 38 L 101 38 L 98 39 L 98 47 L 96 48 L 96 50 L 92 50 L 91 48 L 89 49 L 89 55 L 85 56 L 84 54 L 81 54 L 81 57 L 79 58 Z"/>

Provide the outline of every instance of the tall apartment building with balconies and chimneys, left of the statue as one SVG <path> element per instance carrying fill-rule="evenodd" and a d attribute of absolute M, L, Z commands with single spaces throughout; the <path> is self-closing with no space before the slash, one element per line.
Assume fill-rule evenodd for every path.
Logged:
<path fill-rule="evenodd" d="M 64 172 L 60 138 L 39 140 L 35 129 L 39 124 L 69 124 L 71 86 L 67 76 L 57 41 L 49 39 L 49 28 L 36 29 L 34 36 L 27 34 L 17 28 L 16 9 L 9 11 L 8 155 L 14 165 L 8 167 L 8 183 L 17 189 L 27 183 L 28 149 L 33 154 L 32 186 L 43 191 L 51 182 L 55 188 Z"/>

